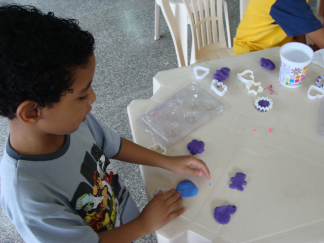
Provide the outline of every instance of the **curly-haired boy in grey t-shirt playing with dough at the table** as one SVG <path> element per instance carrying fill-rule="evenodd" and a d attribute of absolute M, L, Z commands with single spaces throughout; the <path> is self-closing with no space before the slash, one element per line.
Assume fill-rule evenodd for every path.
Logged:
<path fill-rule="evenodd" d="M 129 243 L 184 212 L 171 189 L 139 213 L 108 158 L 210 179 L 203 161 L 156 153 L 98 123 L 93 51 L 76 20 L 0 7 L 0 115 L 10 120 L 1 204 L 27 243 Z"/>

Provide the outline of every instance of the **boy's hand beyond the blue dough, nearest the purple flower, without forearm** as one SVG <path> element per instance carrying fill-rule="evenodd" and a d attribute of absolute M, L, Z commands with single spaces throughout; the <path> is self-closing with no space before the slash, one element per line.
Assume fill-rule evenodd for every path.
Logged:
<path fill-rule="evenodd" d="M 192 155 L 170 156 L 168 157 L 168 162 L 168 168 L 166 169 L 169 171 L 195 176 L 203 176 L 205 174 L 208 180 L 211 179 L 209 169 L 205 162 Z"/>

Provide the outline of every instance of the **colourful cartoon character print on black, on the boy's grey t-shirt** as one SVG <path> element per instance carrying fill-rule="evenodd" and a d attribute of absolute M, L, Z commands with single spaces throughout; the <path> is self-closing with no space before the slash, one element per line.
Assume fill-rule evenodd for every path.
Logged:
<path fill-rule="evenodd" d="M 120 226 L 130 194 L 97 145 L 86 153 L 80 173 L 89 184 L 80 182 L 70 203 L 84 224 L 96 232 Z"/>

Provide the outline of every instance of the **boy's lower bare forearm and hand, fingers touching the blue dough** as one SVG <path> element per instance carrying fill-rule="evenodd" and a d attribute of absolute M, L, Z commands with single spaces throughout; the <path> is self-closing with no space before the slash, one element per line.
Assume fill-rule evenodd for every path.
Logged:
<path fill-rule="evenodd" d="M 159 190 L 136 219 L 120 227 L 100 232 L 100 243 L 130 243 L 163 227 L 185 211 L 185 208 L 175 211 L 181 202 L 180 192 L 176 192 L 175 189 L 165 194 Z"/>

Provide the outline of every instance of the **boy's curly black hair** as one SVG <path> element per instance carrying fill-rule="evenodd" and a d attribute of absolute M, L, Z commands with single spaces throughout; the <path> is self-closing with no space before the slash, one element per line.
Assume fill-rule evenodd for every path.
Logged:
<path fill-rule="evenodd" d="M 73 84 L 95 49 L 78 21 L 32 6 L 0 7 L 0 115 L 13 119 L 26 100 L 52 107 Z"/>

